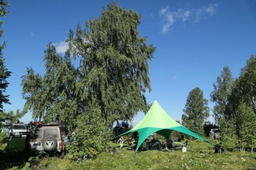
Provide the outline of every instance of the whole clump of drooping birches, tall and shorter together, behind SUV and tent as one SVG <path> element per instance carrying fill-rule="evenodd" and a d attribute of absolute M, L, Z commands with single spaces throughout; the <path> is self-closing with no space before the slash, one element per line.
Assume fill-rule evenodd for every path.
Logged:
<path fill-rule="evenodd" d="M 112 2 L 100 17 L 86 22 L 85 29 L 78 25 L 75 34 L 69 32 L 64 57 L 49 43 L 45 75 L 27 68 L 22 77 L 22 94 L 33 117 L 51 120 L 60 114 L 62 121 L 74 125 L 90 103 L 97 103 L 102 122 L 112 127 L 116 120 L 129 121 L 138 111 L 146 112 L 144 94 L 151 91 L 148 60 L 155 47 L 139 37 L 140 19 L 135 11 Z M 80 59 L 77 68 L 70 54 Z"/>

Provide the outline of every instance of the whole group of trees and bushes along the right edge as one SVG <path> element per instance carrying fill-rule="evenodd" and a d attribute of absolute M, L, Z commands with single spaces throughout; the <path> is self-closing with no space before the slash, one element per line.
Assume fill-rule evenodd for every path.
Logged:
<path fill-rule="evenodd" d="M 211 101 L 215 102 L 214 117 L 220 127 L 220 141 L 229 150 L 255 147 L 256 128 L 256 58 L 248 59 L 240 77 L 232 80 L 224 67 L 214 83 Z"/>

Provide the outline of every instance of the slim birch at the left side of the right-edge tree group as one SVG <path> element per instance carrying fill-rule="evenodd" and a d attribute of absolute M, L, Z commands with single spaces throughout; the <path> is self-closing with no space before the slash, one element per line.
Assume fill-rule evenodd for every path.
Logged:
<path fill-rule="evenodd" d="M 217 124 L 220 123 L 220 117 L 228 117 L 226 115 L 226 106 L 228 97 L 231 94 L 234 80 L 228 66 L 224 67 L 220 76 L 217 77 L 216 83 L 213 84 L 213 92 L 211 92 L 211 102 L 215 103 L 213 107 L 214 119 Z"/>

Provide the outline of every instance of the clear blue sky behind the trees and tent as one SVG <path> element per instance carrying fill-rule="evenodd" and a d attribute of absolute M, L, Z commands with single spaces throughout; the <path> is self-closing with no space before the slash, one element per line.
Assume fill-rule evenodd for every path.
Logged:
<path fill-rule="evenodd" d="M 3 18 L 7 41 L 5 66 L 12 71 L 7 93 L 11 105 L 5 111 L 22 109 L 21 76 L 26 67 L 44 74 L 43 50 L 48 41 L 63 53 L 69 29 L 75 30 L 89 18 L 101 15 L 111 1 L 9 1 L 10 13 Z M 149 102 L 157 100 L 174 120 L 180 120 L 187 96 L 199 87 L 209 100 L 213 83 L 223 67 L 229 66 L 237 78 L 246 60 L 256 54 L 256 1 L 117 1 L 120 7 L 141 14 L 140 36 L 156 47 L 149 61 L 152 92 Z M 133 125 L 144 114 L 138 113 Z M 21 121 L 31 121 L 31 114 Z M 210 121 L 213 121 L 211 118 Z"/>

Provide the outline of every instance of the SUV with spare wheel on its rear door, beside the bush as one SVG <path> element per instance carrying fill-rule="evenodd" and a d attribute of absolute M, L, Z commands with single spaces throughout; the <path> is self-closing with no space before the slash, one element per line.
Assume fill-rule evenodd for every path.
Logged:
<path fill-rule="evenodd" d="M 32 154 L 56 153 L 61 159 L 65 156 L 69 144 L 69 133 L 62 124 L 40 124 L 31 130 L 28 150 Z"/>

